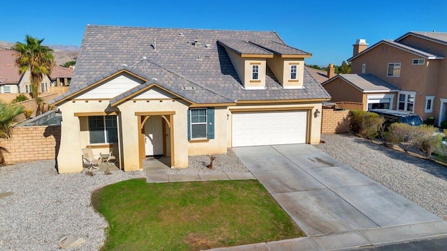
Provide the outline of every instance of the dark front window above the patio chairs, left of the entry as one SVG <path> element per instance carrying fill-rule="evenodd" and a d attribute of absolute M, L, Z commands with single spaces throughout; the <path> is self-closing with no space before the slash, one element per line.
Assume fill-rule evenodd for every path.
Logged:
<path fill-rule="evenodd" d="M 89 116 L 90 144 L 118 142 L 117 116 Z"/>

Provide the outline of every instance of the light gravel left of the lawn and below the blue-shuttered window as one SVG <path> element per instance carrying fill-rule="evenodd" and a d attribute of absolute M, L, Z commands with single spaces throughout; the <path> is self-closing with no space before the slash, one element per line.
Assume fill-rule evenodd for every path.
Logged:
<path fill-rule="evenodd" d="M 236 158 L 236 159 L 235 159 Z M 214 169 L 207 169 L 209 156 L 195 156 L 190 167 L 169 170 L 172 174 L 200 172 L 248 172 L 232 151 L 217 155 Z M 206 163 L 204 166 L 203 163 Z M 90 205 L 93 190 L 130 178 L 145 178 L 143 171 L 57 174 L 53 160 L 0 167 L 0 250 L 59 250 L 63 234 L 83 234 L 90 239 L 73 250 L 98 250 L 108 227 Z"/>

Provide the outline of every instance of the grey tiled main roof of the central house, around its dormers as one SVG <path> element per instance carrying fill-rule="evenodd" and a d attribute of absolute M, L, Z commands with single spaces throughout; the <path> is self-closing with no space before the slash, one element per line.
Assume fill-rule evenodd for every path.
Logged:
<path fill-rule="evenodd" d="M 231 40 L 239 42 L 233 45 L 228 42 Z M 268 68 L 265 90 L 244 90 L 225 48 L 218 41 L 241 52 L 247 48 L 263 50 L 260 47 L 253 49 L 251 46 L 254 45 L 237 47 L 242 45 L 241 42 L 249 40 L 270 40 L 284 45 L 274 31 L 89 25 L 66 95 L 85 88 L 89 82 L 115 72 L 120 67 L 128 66 L 129 70 L 137 70 L 139 74 L 145 75 L 145 79 L 158 79 L 154 84 L 166 88 L 170 86 L 171 91 L 196 103 L 330 98 L 307 70 L 304 73 L 304 89 L 282 89 Z M 196 91 L 183 91 L 183 85 L 196 86 Z"/>

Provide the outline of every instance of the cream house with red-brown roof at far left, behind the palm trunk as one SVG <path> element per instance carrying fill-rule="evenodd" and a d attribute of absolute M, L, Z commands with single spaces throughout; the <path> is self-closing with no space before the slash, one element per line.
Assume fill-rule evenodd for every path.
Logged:
<path fill-rule="evenodd" d="M 0 50 L 0 93 L 31 93 L 30 73 L 19 74 L 15 55 L 14 50 Z M 45 75 L 39 92 L 47 92 L 50 82 L 50 78 Z"/>

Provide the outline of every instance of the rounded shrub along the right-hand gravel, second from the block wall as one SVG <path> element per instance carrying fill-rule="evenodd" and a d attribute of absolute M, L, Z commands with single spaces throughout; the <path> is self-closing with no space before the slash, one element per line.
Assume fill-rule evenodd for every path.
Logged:
<path fill-rule="evenodd" d="M 402 145 L 404 151 L 408 151 L 416 137 L 416 127 L 407 123 L 392 123 L 386 132 L 386 141 L 395 145 Z"/>

